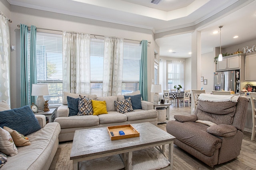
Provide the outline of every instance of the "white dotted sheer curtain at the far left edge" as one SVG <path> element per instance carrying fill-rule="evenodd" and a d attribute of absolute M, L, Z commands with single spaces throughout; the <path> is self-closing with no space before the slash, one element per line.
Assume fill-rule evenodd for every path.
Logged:
<path fill-rule="evenodd" d="M 0 12 L 2 14 L 2 12 Z M 10 105 L 10 33 L 8 19 L 0 14 L 0 100 Z"/>

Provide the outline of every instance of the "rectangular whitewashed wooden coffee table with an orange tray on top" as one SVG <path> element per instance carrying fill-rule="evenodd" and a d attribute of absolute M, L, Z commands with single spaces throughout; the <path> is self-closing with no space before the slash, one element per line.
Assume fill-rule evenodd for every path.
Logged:
<path fill-rule="evenodd" d="M 140 133 L 140 137 L 114 141 L 110 140 L 107 127 L 76 130 L 70 153 L 70 160 L 73 160 L 73 169 L 77 170 L 78 162 L 84 160 L 123 154 L 125 156 L 124 160 L 127 160 L 125 162 L 126 169 L 132 170 L 133 151 L 162 146 L 159 149 L 164 154 L 165 145 L 168 144 L 170 164 L 165 169 L 172 170 L 175 137 L 149 122 L 135 123 L 132 126 Z"/>

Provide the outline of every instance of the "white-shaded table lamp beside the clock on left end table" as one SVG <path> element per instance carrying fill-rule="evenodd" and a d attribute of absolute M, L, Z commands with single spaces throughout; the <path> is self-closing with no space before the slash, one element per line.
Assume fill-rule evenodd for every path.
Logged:
<path fill-rule="evenodd" d="M 38 96 L 36 99 L 38 111 L 44 110 L 44 96 L 46 95 L 49 95 L 48 84 L 32 84 L 31 96 Z"/>

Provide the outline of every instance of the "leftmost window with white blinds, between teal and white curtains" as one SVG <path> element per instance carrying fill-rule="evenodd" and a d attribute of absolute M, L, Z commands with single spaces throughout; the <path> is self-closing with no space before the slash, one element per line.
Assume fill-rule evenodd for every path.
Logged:
<path fill-rule="evenodd" d="M 30 39 L 30 34 L 28 39 Z M 30 51 L 30 45 L 28 45 L 28 47 L 28 51 Z M 30 54 L 30 52 L 28 54 Z M 28 61 L 30 61 L 30 59 Z M 63 80 L 62 35 L 36 33 L 36 69 L 37 83 L 48 84 L 50 95 L 44 96 L 44 99 L 49 100 L 49 106 L 61 105 Z"/>

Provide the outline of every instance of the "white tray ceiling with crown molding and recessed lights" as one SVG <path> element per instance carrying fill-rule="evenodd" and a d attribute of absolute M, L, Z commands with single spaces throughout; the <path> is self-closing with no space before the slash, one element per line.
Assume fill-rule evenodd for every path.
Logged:
<path fill-rule="evenodd" d="M 256 39 L 256 0 L 7 0 L 12 5 L 151 29 L 160 56 L 191 57 L 191 36 L 201 31 L 202 53 Z M 235 35 L 239 37 L 233 39 Z M 170 51 L 172 50 L 172 51 Z"/>

